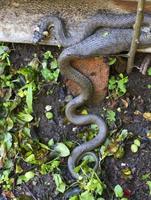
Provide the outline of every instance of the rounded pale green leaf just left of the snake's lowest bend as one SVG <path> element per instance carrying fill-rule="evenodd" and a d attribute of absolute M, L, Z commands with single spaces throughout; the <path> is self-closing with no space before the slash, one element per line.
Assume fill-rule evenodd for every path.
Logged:
<path fill-rule="evenodd" d="M 60 153 L 61 157 L 67 157 L 70 155 L 70 151 L 69 151 L 68 147 L 63 143 L 57 143 L 55 146 L 55 151 Z"/>

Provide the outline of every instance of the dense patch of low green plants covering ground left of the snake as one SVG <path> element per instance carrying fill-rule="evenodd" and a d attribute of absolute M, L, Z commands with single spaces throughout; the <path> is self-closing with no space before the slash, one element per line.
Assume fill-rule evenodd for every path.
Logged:
<path fill-rule="evenodd" d="M 54 144 L 52 140 L 48 145 L 43 144 L 34 140 L 30 133 L 32 123 L 38 125 L 33 115 L 35 95 L 43 83 L 57 81 L 56 59 L 48 51 L 42 62 L 35 57 L 27 66 L 17 69 L 12 65 L 9 53 L 7 46 L 0 46 L 0 186 L 4 192 L 28 182 L 35 174 L 57 174 L 61 158 L 70 154 L 65 144 Z M 53 118 L 50 105 L 44 113 L 48 119 Z M 48 154 L 54 154 L 52 159 Z M 25 172 L 22 161 L 29 166 Z"/>

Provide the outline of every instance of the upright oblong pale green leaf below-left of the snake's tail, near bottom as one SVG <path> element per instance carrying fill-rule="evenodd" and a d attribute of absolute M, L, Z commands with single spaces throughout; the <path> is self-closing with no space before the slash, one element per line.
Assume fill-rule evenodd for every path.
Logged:
<path fill-rule="evenodd" d="M 61 193 L 64 193 L 65 189 L 66 189 L 66 185 L 62 181 L 60 174 L 53 174 L 53 178 L 54 178 L 54 181 L 55 181 L 55 184 L 56 184 L 56 187 L 57 187 L 56 190 L 61 192 Z"/>

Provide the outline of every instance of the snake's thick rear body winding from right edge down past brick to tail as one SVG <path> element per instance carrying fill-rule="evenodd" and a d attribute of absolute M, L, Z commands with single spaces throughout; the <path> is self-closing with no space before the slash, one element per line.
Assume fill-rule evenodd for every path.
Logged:
<path fill-rule="evenodd" d="M 76 57 L 87 57 L 96 55 L 116 54 L 128 50 L 132 39 L 132 29 L 100 29 L 92 36 L 82 42 L 66 48 L 59 56 L 59 64 L 62 75 L 68 79 L 76 81 L 81 87 L 81 94 L 71 100 L 66 107 L 67 118 L 76 125 L 95 123 L 98 125 L 99 133 L 91 141 L 76 147 L 68 159 L 68 168 L 72 176 L 76 179 L 79 175 L 74 172 L 74 168 L 79 159 L 86 153 L 100 146 L 106 138 L 107 128 L 102 118 L 96 115 L 76 115 L 76 109 L 91 97 L 92 87 L 88 79 L 72 68 L 71 61 Z M 140 46 L 151 45 L 150 33 L 142 32 Z M 82 81 L 81 81 L 82 78 Z"/>

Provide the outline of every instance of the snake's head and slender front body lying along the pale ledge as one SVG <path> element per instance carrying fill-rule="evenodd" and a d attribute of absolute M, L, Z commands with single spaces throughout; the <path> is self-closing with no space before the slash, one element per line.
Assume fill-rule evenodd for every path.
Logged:
<path fill-rule="evenodd" d="M 45 38 L 43 32 L 53 27 L 54 36 L 63 47 L 74 45 L 94 33 L 98 28 L 132 28 L 135 23 L 135 13 L 115 14 L 98 13 L 78 24 L 73 33 L 65 30 L 62 21 L 56 16 L 46 16 L 40 19 L 37 30 L 34 32 L 33 42 L 37 43 Z M 151 24 L 151 15 L 145 14 L 143 25 Z"/>

